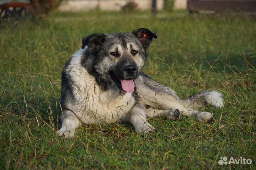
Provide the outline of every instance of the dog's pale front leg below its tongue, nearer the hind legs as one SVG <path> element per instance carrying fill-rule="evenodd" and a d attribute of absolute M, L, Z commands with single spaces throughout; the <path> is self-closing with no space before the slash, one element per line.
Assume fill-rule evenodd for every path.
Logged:
<path fill-rule="evenodd" d="M 128 114 L 128 121 L 133 124 L 135 132 L 149 133 L 156 131 L 156 128 L 146 121 L 146 113 L 141 104 L 135 104 Z"/>

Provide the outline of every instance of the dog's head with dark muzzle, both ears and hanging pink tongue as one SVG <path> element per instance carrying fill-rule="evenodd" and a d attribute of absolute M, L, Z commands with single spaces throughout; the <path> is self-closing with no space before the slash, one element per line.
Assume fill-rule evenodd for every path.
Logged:
<path fill-rule="evenodd" d="M 101 79 L 109 83 L 109 78 L 124 92 L 132 93 L 133 80 L 145 64 L 153 38 L 156 34 L 145 28 L 132 33 L 92 34 L 82 39 L 82 49 L 87 46 L 93 57 L 90 67 Z"/>

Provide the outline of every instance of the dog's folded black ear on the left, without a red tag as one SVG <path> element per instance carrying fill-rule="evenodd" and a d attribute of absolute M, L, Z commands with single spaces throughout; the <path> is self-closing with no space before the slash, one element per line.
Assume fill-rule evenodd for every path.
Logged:
<path fill-rule="evenodd" d="M 97 49 L 105 39 L 105 34 L 92 34 L 82 39 L 82 49 L 87 45 L 89 48 Z"/>

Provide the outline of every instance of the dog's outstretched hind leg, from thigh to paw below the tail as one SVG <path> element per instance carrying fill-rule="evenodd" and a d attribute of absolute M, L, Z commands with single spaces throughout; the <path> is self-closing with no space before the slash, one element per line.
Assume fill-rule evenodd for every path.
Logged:
<path fill-rule="evenodd" d="M 183 115 L 195 117 L 197 121 L 213 120 L 212 114 L 209 112 L 199 112 L 186 107 L 171 88 L 155 82 L 144 73 L 140 73 L 135 85 L 138 98 L 143 105 L 162 110 L 178 109 Z"/>

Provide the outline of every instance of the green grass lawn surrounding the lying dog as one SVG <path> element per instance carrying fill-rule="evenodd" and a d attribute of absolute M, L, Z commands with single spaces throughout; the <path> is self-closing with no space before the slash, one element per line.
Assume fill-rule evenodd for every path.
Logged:
<path fill-rule="evenodd" d="M 0 25 L 0 169 L 256 169 L 255 16 L 190 16 L 183 11 L 52 13 L 45 21 Z M 222 92 L 214 121 L 149 119 L 158 132 L 131 124 L 60 128 L 60 73 L 92 33 L 155 31 L 145 72 L 180 97 Z M 251 165 L 218 165 L 220 157 Z"/>

